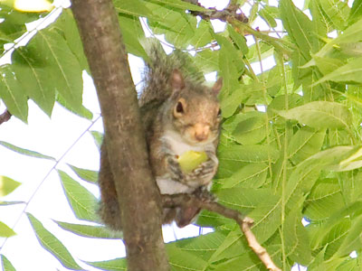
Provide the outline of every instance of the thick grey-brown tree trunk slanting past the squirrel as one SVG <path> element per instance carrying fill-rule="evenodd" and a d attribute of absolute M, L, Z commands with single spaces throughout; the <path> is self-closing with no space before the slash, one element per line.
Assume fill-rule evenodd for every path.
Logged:
<path fill-rule="evenodd" d="M 72 0 L 84 52 L 100 100 L 115 176 L 129 271 L 167 271 L 161 201 L 148 164 L 137 92 L 111 0 Z"/>

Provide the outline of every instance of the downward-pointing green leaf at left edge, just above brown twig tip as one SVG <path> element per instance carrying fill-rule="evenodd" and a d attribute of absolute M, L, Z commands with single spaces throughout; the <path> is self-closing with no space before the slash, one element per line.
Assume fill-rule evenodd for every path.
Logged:
<path fill-rule="evenodd" d="M 28 117 L 28 98 L 24 87 L 16 79 L 12 66 L 1 66 L 0 72 L 0 98 L 4 101 L 5 106 L 12 115 L 26 123 Z"/>

